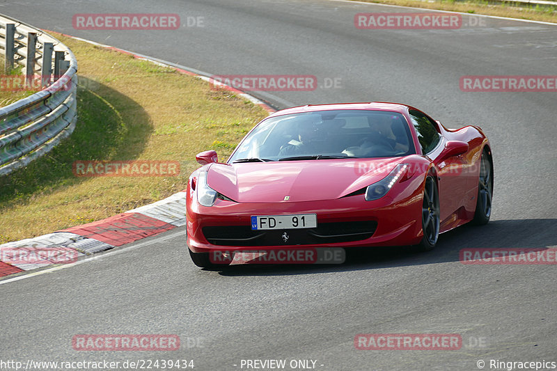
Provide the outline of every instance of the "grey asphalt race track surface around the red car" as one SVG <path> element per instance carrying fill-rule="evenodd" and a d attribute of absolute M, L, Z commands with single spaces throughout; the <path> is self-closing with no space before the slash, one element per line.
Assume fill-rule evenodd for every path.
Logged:
<path fill-rule="evenodd" d="M 178 228 L 2 284 L 0 360 L 180 358 L 193 359 L 194 370 L 246 370 L 242 359 L 316 360 L 315 370 L 557 362 L 556 266 L 459 262 L 462 248 L 557 245 L 557 93 L 459 86 L 464 75 L 556 75 L 557 26 L 475 16 L 463 17 L 460 29 L 354 26 L 356 13 L 407 11 L 327 0 L 0 1 L 0 13 L 33 26 L 204 72 L 317 77 L 313 91 L 254 93 L 277 108 L 404 102 L 447 127 L 480 125 L 495 167 L 492 221 L 441 235 L 430 253 L 393 248 L 340 266 L 206 271 L 191 263 Z M 178 13 L 185 26 L 76 30 L 75 13 Z M 187 17 L 203 17 L 203 27 L 188 27 Z M 174 352 L 72 349 L 73 336 L 103 333 L 177 334 L 182 345 Z M 359 333 L 458 333 L 462 347 L 356 350 Z"/>

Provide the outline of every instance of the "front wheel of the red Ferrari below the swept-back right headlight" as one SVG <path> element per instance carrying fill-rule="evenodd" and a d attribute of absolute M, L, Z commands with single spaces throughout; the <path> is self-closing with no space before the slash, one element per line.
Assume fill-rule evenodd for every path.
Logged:
<path fill-rule="evenodd" d="M 427 175 L 423 187 L 422 202 L 422 231 L 423 237 L 418 244 L 418 250 L 433 250 L 439 239 L 439 189 L 432 175 Z"/>

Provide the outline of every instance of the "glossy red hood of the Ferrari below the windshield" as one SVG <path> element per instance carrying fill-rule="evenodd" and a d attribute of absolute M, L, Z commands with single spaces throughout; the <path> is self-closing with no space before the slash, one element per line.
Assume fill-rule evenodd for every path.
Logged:
<path fill-rule="evenodd" d="M 381 180 L 403 159 L 212 164 L 207 170 L 207 184 L 239 203 L 331 200 Z"/>

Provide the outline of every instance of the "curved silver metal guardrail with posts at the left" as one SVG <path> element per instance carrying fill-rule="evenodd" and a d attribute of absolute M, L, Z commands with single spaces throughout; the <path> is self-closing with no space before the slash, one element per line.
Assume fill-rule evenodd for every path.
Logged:
<path fill-rule="evenodd" d="M 5 73 L 22 65 L 25 86 L 42 89 L 0 108 L 1 176 L 45 155 L 74 131 L 77 61 L 56 38 L 5 15 L 0 15 L 0 53 L 6 58 Z"/>

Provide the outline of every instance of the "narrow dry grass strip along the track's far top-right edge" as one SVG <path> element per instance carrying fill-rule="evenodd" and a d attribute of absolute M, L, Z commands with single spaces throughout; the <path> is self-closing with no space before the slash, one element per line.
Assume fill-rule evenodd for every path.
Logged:
<path fill-rule="evenodd" d="M 382 3 L 413 8 L 447 10 L 451 12 L 495 15 L 533 21 L 557 23 L 557 6 L 541 6 L 528 3 L 489 3 L 486 0 L 354 0 L 366 3 Z"/>

